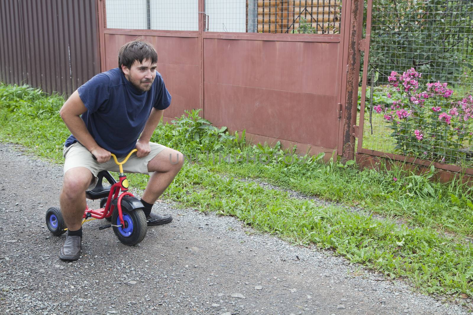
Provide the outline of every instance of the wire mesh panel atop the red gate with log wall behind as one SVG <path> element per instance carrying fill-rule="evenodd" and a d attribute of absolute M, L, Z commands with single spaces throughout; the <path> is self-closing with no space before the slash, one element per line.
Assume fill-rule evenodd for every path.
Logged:
<path fill-rule="evenodd" d="M 341 0 L 206 0 L 210 32 L 340 33 Z"/>

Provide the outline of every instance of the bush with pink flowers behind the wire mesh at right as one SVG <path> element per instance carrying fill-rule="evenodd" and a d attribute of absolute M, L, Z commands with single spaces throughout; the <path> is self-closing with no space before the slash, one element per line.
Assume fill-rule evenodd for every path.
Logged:
<path fill-rule="evenodd" d="M 395 151 L 438 162 L 458 163 L 471 145 L 470 119 L 473 119 L 473 96 L 453 99 L 447 83 L 427 83 L 421 91 L 422 75 L 414 68 L 395 71 L 388 77 L 387 97 L 391 104 L 373 106 L 393 130 Z M 473 120 L 472 120 L 473 122 Z"/>

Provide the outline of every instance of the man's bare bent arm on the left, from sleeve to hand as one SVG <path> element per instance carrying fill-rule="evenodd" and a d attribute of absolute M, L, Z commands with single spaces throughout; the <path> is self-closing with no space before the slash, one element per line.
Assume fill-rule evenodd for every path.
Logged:
<path fill-rule="evenodd" d="M 97 162 L 107 162 L 110 160 L 110 152 L 97 145 L 94 138 L 88 132 L 86 124 L 80 118 L 80 115 L 86 111 L 87 108 L 80 99 L 79 92 L 76 90 L 70 95 L 64 105 L 62 105 L 59 114 L 72 135 L 74 135 L 80 144 L 85 146 L 90 153 L 95 155 Z"/>

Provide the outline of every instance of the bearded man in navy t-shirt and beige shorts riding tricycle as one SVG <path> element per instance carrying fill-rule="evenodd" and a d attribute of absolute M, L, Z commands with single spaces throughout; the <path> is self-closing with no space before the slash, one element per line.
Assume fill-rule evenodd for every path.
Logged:
<path fill-rule="evenodd" d="M 148 225 L 172 221 L 170 214 L 151 213 L 184 163 L 182 153 L 149 142 L 163 110 L 171 103 L 156 71 L 157 62 L 158 54 L 151 44 L 126 43 L 118 54 L 118 68 L 92 77 L 61 108 L 61 118 L 72 134 L 64 144 L 60 204 L 68 234 L 59 255 L 62 260 L 79 259 L 85 192 L 95 187 L 99 171 L 118 171 L 110 153 L 123 157 L 134 148 L 138 150 L 123 164 L 123 171 L 150 175 L 141 199 Z M 177 162 L 171 161 L 171 155 L 177 155 Z"/>

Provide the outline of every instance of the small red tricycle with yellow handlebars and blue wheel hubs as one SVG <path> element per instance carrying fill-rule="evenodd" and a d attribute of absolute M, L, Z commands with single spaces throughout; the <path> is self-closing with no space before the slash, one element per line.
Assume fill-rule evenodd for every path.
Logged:
<path fill-rule="evenodd" d="M 117 238 L 125 245 L 136 245 L 146 236 L 147 221 L 143 213 L 143 204 L 133 194 L 128 192 L 128 179 L 123 173 L 123 164 L 128 161 L 131 154 L 137 150 L 133 149 L 122 162 L 118 162 L 112 153 L 115 163 L 120 168 L 119 180 L 114 179 L 112 174 L 102 170 L 97 174 L 98 183 L 92 190 L 86 192 L 86 197 L 91 200 L 100 199 L 100 209 L 89 209 L 86 204 L 82 224 L 96 219 L 111 221 L 110 224 L 98 229 L 104 230 L 112 227 Z M 103 186 L 103 179 L 110 186 Z M 121 192 L 121 194 L 120 194 Z M 46 225 L 53 235 L 59 236 L 67 231 L 66 224 L 62 218 L 61 210 L 49 208 L 46 212 Z"/>

